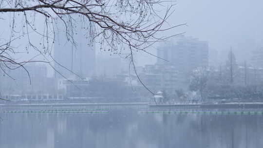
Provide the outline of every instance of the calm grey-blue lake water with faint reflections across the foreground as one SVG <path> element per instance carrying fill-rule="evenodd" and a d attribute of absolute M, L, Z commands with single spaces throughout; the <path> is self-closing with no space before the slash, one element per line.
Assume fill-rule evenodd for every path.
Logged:
<path fill-rule="evenodd" d="M 3 112 L 13 110 L 28 108 L 1 109 L 0 148 L 263 148 L 263 114 L 140 113 L 149 111 L 140 107 Z"/>

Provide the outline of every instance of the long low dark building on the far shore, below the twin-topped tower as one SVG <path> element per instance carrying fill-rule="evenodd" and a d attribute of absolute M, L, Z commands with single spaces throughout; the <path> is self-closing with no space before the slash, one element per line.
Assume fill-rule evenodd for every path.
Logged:
<path fill-rule="evenodd" d="M 132 83 L 132 84 L 131 84 Z M 125 75 L 58 80 L 58 92 L 70 99 L 129 100 L 146 97 L 147 90 Z"/>

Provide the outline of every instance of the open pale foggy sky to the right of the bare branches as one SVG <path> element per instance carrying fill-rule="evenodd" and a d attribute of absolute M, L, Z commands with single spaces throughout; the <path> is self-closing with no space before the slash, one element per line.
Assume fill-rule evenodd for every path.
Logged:
<path fill-rule="evenodd" d="M 250 60 L 251 51 L 263 46 L 263 0 L 177 0 L 169 24 L 187 23 L 174 29 L 207 40 L 224 60 L 232 46 L 237 61 Z M 158 47 L 156 45 L 155 47 Z M 150 51 L 153 50 L 149 49 Z M 148 57 L 145 63 L 155 58 Z M 143 63 L 143 62 L 141 62 Z"/>

